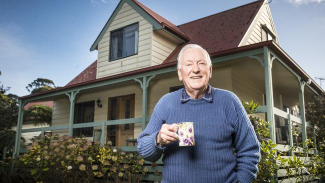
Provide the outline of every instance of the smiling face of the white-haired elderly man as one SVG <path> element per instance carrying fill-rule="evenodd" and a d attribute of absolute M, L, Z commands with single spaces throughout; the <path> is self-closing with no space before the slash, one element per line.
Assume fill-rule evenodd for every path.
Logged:
<path fill-rule="evenodd" d="M 177 73 L 190 97 L 202 97 L 212 76 L 212 65 L 207 64 L 201 48 L 188 48 L 181 54 Z"/>

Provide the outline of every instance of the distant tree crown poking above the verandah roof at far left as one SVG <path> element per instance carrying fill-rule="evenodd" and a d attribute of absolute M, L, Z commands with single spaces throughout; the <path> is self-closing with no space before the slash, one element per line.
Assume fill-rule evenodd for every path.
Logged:
<path fill-rule="evenodd" d="M 26 86 L 27 91 L 36 93 L 56 88 L 54 82 L 46 78 L 37 78 Z"/>

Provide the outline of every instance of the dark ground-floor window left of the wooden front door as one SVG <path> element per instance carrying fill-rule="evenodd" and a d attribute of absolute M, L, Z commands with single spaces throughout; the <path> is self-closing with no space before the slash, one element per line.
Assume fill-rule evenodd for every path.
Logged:
<path fill-rule="evenodd" d="M 93 122 L 95 101 L 75 103 L 73 123 Z M 73 128 L 73 136 L 92 136 L 93 127 Z"/>

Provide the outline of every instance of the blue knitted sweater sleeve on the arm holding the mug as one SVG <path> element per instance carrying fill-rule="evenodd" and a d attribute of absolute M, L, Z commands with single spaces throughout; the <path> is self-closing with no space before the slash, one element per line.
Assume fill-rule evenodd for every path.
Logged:
<path fill-rule="evenodd" d="M 162 97 L 155 105 L 148 125 L 137 138 L 138 153 L 143 159 L 150 162 L 158 160 L 165 148 L 164 145 L 159 147 L 156 143 L 157 134 L 168 116 L 168 110 L 165 105 L 164 97 Z"/>

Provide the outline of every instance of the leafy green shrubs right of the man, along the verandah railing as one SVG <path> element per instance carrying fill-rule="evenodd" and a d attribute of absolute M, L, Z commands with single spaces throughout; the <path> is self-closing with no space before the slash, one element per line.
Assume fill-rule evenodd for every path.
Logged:
<path fill-rule="evenodd" d="M 248 114 L 256 111 L 258 107 L 258 104 L 253 101 L 241 102 Z M 290 158 L 284 158 L 281 156 L 283 155 L 282 152 L 275 148 L 276 144 L 270 139 L 269 129 L 267 127 L 270 122 L 259 117 L 249 116 L 249 119 L 255 128 L 261 154 L 255 182 L 274 182 L 272 177 L 280 168 L 286 170 L 286 174 L 281 181 L 289 178 L 292 179 L 292 182 L 310 182 L 311 180 L 320 180 L 323 178 L 325 175 L 325 153 L 323 152 L 325 138 L 318 143 L 320 154 L 312 154 L 314 151 L 313 143 L 310 139 L 307 139 L 289 148 L 289 151 L 298 152 L 297 156 L 293 155 Z M 295 140 L 298 141 L 298 132 L 293 130 L 292 134 Z M 306 157 L 307 154 L 309 154 L 309 157 Z M 296 179 L 294 180 L 293 178 Z"/>

